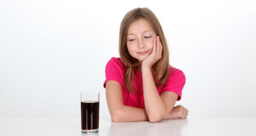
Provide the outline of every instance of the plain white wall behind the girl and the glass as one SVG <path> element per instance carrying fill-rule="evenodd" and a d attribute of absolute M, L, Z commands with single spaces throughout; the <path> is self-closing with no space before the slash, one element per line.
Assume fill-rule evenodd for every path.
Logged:
<path fill-rule="evenodd" d="M 150 8 L 186 75 L 189 116 L 256 117 L 255 0 L 0 0 L 0 117 L 80 116 L 118 57 L 122 17 Z"/>

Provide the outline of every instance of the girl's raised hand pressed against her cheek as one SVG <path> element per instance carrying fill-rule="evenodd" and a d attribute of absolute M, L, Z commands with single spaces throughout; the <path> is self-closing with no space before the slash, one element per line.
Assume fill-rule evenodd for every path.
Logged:
<path fill-rule="evenodd" d="M 159 59 L 162 57 L 162 52 L 163 52 L 163 45 L 160 42 L 159 36 L 157 36 L 157 39 L 153 41 L 153 49 L 151 54 L 146 57 L 143 62 L 142 66 L 146 66 L 151 68 L 154 63 L 156 63 Z"/>

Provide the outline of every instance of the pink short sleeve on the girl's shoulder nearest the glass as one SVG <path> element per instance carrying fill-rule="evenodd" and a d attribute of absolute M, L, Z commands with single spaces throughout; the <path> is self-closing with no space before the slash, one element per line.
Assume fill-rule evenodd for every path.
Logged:
<path fill-rule="evenodd" d="M 105 76 L 104 88 L 106 88 L 106 83 L 109 80 L 119 82 L 120 85 L 123 86 L 123 65 L 119 58 L 112 57 L 108 61 L 105 67 Z"/>

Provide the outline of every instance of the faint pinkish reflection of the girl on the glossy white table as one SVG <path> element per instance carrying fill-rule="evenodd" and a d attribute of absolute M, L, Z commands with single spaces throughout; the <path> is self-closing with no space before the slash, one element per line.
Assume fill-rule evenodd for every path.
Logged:
<path fill-rule="evenodd" d="M 108 136 L 181 136 L 187 119 L 165 119 L 161 122 L 112 122 Z"/>

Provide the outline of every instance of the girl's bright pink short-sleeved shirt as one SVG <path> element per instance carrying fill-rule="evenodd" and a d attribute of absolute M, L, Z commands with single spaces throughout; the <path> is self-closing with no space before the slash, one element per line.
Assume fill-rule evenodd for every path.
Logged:
<path fill-rule="evenodd" d="M 142 73 L 138 70 L 135 71 L 137 78 L 134 78 L 135 94 L 129 93 L 124 86 L 124 74 L 125 65 L 121 62 L 120 58 L 112 57 L 105 68 L 106 80 L 104 82 L 104 88 L 106 88 L 106 82 L 114 80 L 119 82 L 122 87 L 123 103 L 127 106 L 145 108 L 144 97 L 143 97 L 143 84 L 142 84 Z M 181 99 L 182 89 L 185 85 L 186 78 L 184 73 L 176 68 L 170 66 L 169 77 L 165 85 L 157 87 L 158 94 L 162 94 L 165 91 L 171 91 L 178 94 L 177 101 Z"/>

